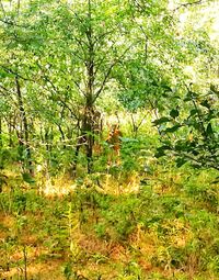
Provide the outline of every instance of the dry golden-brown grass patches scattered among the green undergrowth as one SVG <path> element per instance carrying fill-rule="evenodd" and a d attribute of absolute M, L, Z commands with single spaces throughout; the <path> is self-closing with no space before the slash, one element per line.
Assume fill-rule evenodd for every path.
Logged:
<path fill-rule="evenodd" d="M 16 180 L 13 172 L 11 172 L 10 176 L 10 182 Z M 154 183 L 154 193 L 159 195 L 176 193 L 177 190 L 175 186 L 181 183 L 182 178 L 180 175 L 174 173 L 168 176 L 163 181 L 158 180 L 157 183 Z M 152 179 L 155 180 L 155 177 Z M 38 183 L 41 187 L 41 194 L 46 197 L 45 199 L 47 199 L 48 208 L 50 206 L 51 209 L 55 200 L 62 203 L 64 200 L 61 198 L 65 198 L 66 194 L 73 192 L 74 189 L 78 188 L 77 182 L 68 176 L 55 177 L 53 179 L 42 178 L 42 181 L 39 180 Z M 89 188 L 93 190 L 92 188 L 94 188 L 101 193 L 115 197 L 127 193 L 138 193 L 140 177 L 138 173 L 130 173 L 126 177 L 118 175 L 115 179 L 114 176 L 106 173 L 100 176 L 100 183 L 101 186 L 96 186 L 92 178 L 87 177 L 80 188 L 84 188 L 84 190 Z M 22 183 L 22 186 L 25 190 L 30 188 L 26 187 L 25 183 Z M 88 211 L 91 210 L 88 209 Z M 79 213 L 76 212 L 71 215 L 72 229 L 68 237 L 64 237 L 66 238 L 64 239 L 65 249 L 53 251 L 53 249 L 49 248 L 49 246 L 47 247 L 46 243 L 44 243 L 45 239 L 54 242 L 53 233 L 47 233 L 45 231 L 42 234 L 41 231 L 44 231 L 44 228 L 39 228 L 38 232 L 32 232 L 32 227 L 35 226 L 37 228 L 45 219 L 44 214 L 42 210 L 35 213 L 22 213 L 22 215 L 28 217 L 32 222 L 25 225 L 20 233 L 18 232 L 15 215 L 9 213 L 0 214 L 2 228 L 2 231 L 0 231 L 0 243 L 3 245 L 2 248 L 0 248 L 0 254 L 3 256 L 3 265 L 0 268 L 0 279 L 19 279 L 19 277 L 24 275 L 24 245 L 27 251 L 27 275 L 30 279 L 64 280 L 66 279 L 64 277 L 64 267 L 69 260 L 73 264 L 73 269 L 77 275 L 84 276 L 89 280 L 96 280 L 99 275 L 102 276 L 102 280 L 123 279 L 122 277 L 119 278 L 119 276 L 123 275 L 131 262 L 135 262 L 146 277 L 154 272 L 166 279 L 174 279 L 173 275 L 175 279 L 181 279 L 183 275 L 186 277 L 186 272 L 188 277 L 194 277 L 196 272 L 195 269 L 198 261 L 196 255 L 191 255 L 191 265 L 186 272 L 172 268 L 171 264 L 166 261 L 168 255 L 165 254 L 168 246 L 183 249 L 194 237 L 193 233 L 189 231 L 189 226 L 178 219 L 169 219 L 164 222 L 159 222 L 166 232 L 163 238 L 158 236 L 155 227 L 151 226 L 146 229 L 146 226 L 139 223 L 127 237 L 126 242 L 119 242 L 116 240 L 116 238 L 99 238 L 92 227 L 95 222 L 95 217 L 92 216 L 92 214 L 89 216 L 90 220 L 81 227 Z M 99 215 L 99 212 L 96 211 L 95 214 Z M 48 219 L 48 216 L 46 219 Z M 106 231 L 110 229 L 106 228 Z M 5 249 L 9 238 L 14 238 L 15 236 L 19 236 L 18 243 L 11 246 L 10 249 Z M 110 236 L 112 237 L 113 233 Z M 159 267 L 154 265 L 154 258 L 164 259 L 168 265 Z M 7 271 L 7 262 L 10 262 L 9 271 Z"/>

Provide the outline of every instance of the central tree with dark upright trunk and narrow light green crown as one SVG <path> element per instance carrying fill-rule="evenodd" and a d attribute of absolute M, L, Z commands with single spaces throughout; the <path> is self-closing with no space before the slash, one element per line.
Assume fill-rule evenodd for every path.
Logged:
<path fill-rule="evenodd" d="M 59 22 L 56 25 L 57 19 Z M 56 47 L 65 55 L 68 64 L 65 72 L 70 85 L 73 85 L 69 90 L 78 96 L 81 107 L 78 112 L 80 132 L 73 171 L 82 144 L 87 149 L 88 171 L 92 170 L 96 116 L 100 115 L 95 103 L 111 79 L 113 68 L 124 59 L 132 45 L 132 42 L 125 42 L 126 32 L 130 32 L 126 29 L 126 22 L 123 22 L 125 20 L 125 5 L 117 1 L 107 5 L 91 0 L 82 4 L 60 4 L 51 16 L 50 27 L 54 29 L 55 23 L 56 30 L 54 35 L 59 34 L 64 44 L 60 46 L 58 43 Z"/>

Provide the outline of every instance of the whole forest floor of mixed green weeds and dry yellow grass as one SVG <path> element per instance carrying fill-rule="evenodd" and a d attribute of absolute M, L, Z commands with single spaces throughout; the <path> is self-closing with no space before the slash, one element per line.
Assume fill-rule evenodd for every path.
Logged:
<path fill-rule="evenodd" d="M 4 171 L 0 279 L 217 280 L 214 171 L 67 176 Z"/>

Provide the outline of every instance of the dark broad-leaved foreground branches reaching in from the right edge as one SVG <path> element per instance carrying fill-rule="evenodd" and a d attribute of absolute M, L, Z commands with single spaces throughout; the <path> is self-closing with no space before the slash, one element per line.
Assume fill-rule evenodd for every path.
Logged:
<path fill-rule="evenodd" d="M 175 156 L 177 167 L 189 161 L 197 168 L 219 170 L 218 98 L 214 86 L 203 96 L 189 90 L 183 100 L 178 98 L 181 105 L 155 120 L 162 135 L 157 157 Z"/>

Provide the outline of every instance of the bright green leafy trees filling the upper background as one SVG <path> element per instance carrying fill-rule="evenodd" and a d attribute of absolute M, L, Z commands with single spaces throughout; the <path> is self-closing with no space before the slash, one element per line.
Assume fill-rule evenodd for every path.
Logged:
<path fill-rule="evenodd" d="M 215 87 L 207 9 L 215 3 L 1 1 L 1 154 L 23 173 L 45 163 L 74 173 L 84 146 L 91 172 L 108 97 L 131 113 L 137 137 L 147 112 L 177 110 L 191 82 L 195 92 Z"/>

